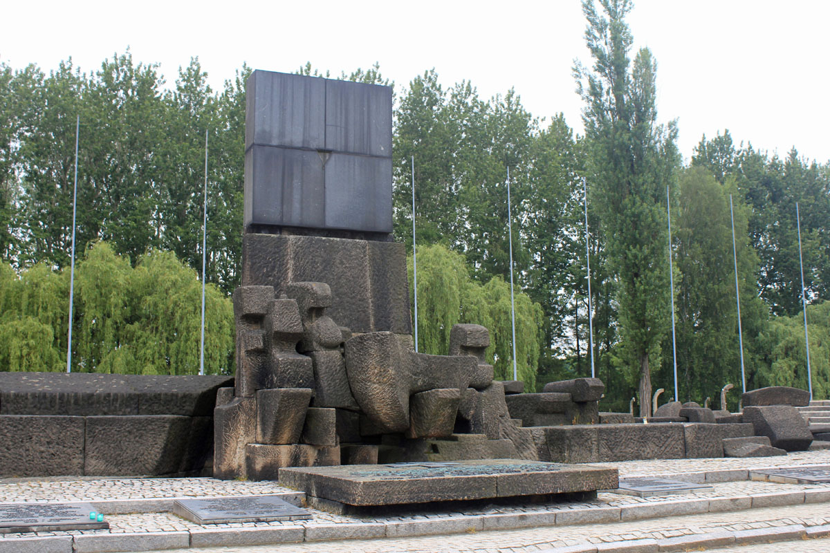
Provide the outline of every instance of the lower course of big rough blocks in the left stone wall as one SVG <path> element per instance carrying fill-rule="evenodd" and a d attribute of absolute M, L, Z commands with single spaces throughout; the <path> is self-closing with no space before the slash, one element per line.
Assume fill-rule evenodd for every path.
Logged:
<path fill-rule="evenodd" d="M 0 415 L 0 476 L 210 474 L 212 417 Z"/>

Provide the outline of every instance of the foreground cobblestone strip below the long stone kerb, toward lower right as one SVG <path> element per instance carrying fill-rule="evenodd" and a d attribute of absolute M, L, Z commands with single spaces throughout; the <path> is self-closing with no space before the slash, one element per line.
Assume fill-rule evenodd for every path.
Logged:
<path fill-rule="evenodd" d="M 240 546 L 168 550 L 168 553 L 530 553 L 534 551 L 556 551 L 555 548 L 579 544 L 612 544 L 620 541 L 662 540 L 682 536 L 711 535 L 718 532 L 745 532 L 763 530 L 766 534 L 792 531 L 792 526 L 821 526 L 830 523 L 830 509 L 824 505 L 801 505 L 793 507 L 766 507 L 751 512 L 726 512 L 718 514 L 692 515 L 689 517 L 663 517 L 646 521 L 615 522 L 579 526 L 552 526 L 510 531 L 482 531 L 452 536 L 414 536 L 387 538 L 384 540 L 342 540 L 321 543 L 285 544 L 277 546 Z M 749 531 L 749 532 L 748 532 Z M 828 528 L 830 532 L 830 528 Z M 763 539 L 763 538 L 762 538 Z M 645 544 L 643 544 L 645 545 Z M 808 546 L 810 547 L 808 549 Z M 758 547 L 759 549 L 755 549 Z M 773 549 L 776 548 L 776 549 Z M 580 550 L 578 550 L 580 551 Z M 600 550 L 606 551 L 606 550 Z M 611 550 L 613 551 L 613 550 Z M 623 550 L 621 550 L 623 551 Z M 658 551 L 653 549 L 631 551 Z M 682 551 L 682 550 L 680 550 Z M 700 546 L 694 551 L 701 550 Z M 770 545 L 739 546 L 706 549 L 706 551 L 727 551 L 734 553 L 767 553 L 787 551 L 781 542 Z M 830 551 L 830 538 L 814 540 L 799 539 L 789 551 Z"/>

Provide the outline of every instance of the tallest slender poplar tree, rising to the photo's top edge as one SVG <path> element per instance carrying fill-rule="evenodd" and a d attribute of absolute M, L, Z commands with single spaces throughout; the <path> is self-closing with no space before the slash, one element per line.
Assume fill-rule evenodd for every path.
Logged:
<path fill-rule="evenodd" d="M 623 355 L 639 381 L 640 412 L 651 414 L 653 366 L 669 323 L 666 186 L 679 165 L 676 124 L 657 125 L 657 64 L 647 48 L 628 57 L 632 35 L 625 22 L 628 0 L 583 0 L 591 70 L 574 68 L 585 102 L 589 183 L 608 238 L 608 260 L 618 280 Z M 632 379 L 633 380 L 633 379 Z"/>

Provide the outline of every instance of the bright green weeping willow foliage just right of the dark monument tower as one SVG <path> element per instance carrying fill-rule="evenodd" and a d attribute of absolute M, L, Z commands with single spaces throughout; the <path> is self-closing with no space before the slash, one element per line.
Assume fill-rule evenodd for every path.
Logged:
<path fill-rule="evenodd" d="M 510 285 L 500 277 L 484 285 L 467 273 L 464 257 L 442 245 L 419 246 L 418 351 L 446 355 L 450 331 L 457 323 L 481 324 L 490 330 L 487 357 L 500 380 L 513 379 Z M 413 259 L 408 258 L 410 299 L 414 301 Z M 413 305 L 414 313 L 414 305 Z M 528 390 L 535 388 L 543 313 L 525 293 L 515 293 L 516 368 Z"/>

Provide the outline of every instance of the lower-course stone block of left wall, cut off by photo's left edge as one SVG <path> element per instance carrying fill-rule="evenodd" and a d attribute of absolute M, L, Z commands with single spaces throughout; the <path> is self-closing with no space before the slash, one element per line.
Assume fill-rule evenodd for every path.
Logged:
<path fill-rule="evenodd" d="M 0 476 L 84 473 L 84 417 L 0 415 Z"/>

